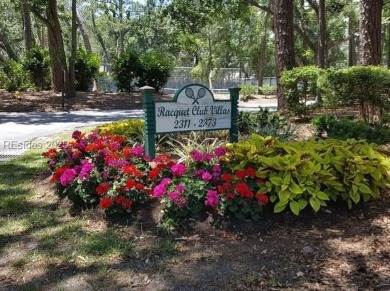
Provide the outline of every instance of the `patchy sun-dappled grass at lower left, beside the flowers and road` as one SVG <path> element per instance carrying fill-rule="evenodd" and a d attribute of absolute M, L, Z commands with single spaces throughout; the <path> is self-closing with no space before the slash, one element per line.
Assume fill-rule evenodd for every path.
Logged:
<path fill-rule="evenodd" d="M 56 136 L 60 141 L 70 133 Z M 40 290 L 41 279 L 58 281 L 63 273 L 99 276 L 113 273 L 113 264 L 174 252 L 174 244 L 151 244 L 137 251 L 134 237 L 108 225 L 103 213 L 86 210 L 71 216 L 70 206 L 55 195 L 42 157 L 45 149 L 0 163 L 0 259 L 18 288 Z M 22 280 L 23 278 L 23 280 Z"/>

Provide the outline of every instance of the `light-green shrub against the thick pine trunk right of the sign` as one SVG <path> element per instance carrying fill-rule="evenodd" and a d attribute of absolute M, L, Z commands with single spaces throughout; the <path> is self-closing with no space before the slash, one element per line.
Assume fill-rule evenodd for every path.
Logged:
<path fill-rule="evenodd" d="M 320 90 L 318 81 L 325 73 L 325 70 L 315 66 L 297 67 L 284 71 L 280 82 L 285 88 L 288 110 L 301 117 L 306 117 L 310 110 L 306 102 L 309 98 L 318 95 Z"/>

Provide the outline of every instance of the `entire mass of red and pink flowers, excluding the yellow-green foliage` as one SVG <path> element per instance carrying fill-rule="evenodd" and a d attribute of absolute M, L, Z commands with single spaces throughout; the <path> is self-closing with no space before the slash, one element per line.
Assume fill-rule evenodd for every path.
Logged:
<path fill-rule="evenodd" d="M 256 220 L 269 202 L 258 192 L 264 181 L 256 170 L 231 170 L 226 158 L 232 153 L 225 147 L 212 153 L 192 150 L 186 163 L 167 155 L 151 162 L 142 146 L 130 146 L 123 136 L 75 131 L 72 137 L 43 155 L 59 193 L 77 205 L 130 212 L 154 197 L 164 204 L 165 218 L 196 217 L 210 210 Z"/>

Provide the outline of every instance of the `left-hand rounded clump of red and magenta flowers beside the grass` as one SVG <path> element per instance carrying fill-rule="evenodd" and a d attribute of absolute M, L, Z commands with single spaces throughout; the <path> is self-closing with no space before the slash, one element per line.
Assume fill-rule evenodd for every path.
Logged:
<path fill-rule="evenodd" d="M 43 153 L 61 195 L 108 212 L 129 212 L 149 200 L 155 176 L 142 146 L 131 147 L 126 138 L 109 133 L 75 131 L 72 138 Z"/>

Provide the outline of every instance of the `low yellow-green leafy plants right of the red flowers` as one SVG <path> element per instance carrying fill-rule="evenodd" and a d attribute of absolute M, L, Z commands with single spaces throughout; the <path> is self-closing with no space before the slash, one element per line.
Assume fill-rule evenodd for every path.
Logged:
<path fill-rule="evenodd" d="M 341 199 L 348 207 L 380 195 L 390 186 L 390 160 L 365 141 L 333 139 L 279 141 L 252 135 L 231 144 L 232 169 L 257 169 L 260 192 L 270 195 L 274 211 L 287 207 L 298 215 Z"/>

